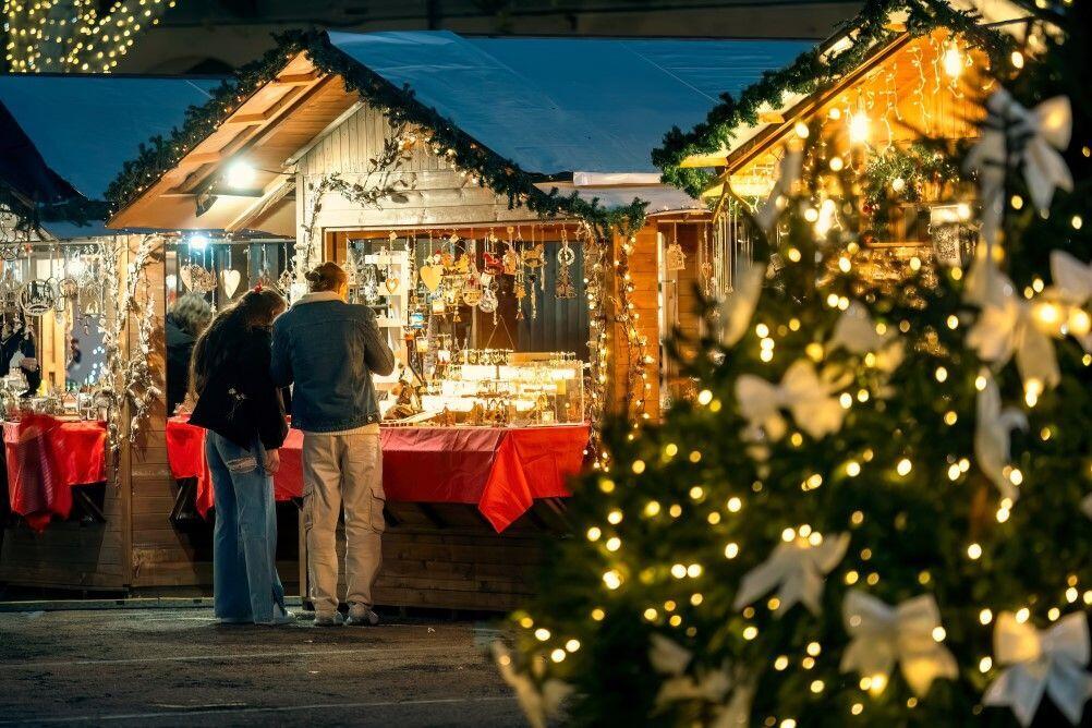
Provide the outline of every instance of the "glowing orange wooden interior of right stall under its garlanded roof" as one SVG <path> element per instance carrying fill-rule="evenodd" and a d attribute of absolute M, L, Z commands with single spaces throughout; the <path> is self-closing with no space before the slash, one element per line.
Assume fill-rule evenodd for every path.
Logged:
<path fill-rule="evenodd" d="M 844 49 L 847 39 L 832 45 Z M 752 253 L 745 211 L 765 203 L 786 150 L 803 138 L 822 140 L 818 158 L 833 171 L 859 170 L 862 213 L 871 230 L 854 252 L 862 277 L 893 285 L 910 270 L 961 265 L 975 235 L 965 225 L 969 196 L 958 189 L 957 170 L 916 140 L 956 144 L 976 136 L 981 98 L 992 89 L 978 71 L 985 56 L 947 32 L 897 35 L 855 70 L 810 96 L 786 94 L 753 127 L 736 130 L 731 148 L 697 155 L 684 167 L 715 167 L 720 176 L 705 191 L 719 211 L 713 224 L 715 277 L 731 290 L 735 263 Z M 835 200 L 817 202 L 815 224 L 836 225 Z"/>

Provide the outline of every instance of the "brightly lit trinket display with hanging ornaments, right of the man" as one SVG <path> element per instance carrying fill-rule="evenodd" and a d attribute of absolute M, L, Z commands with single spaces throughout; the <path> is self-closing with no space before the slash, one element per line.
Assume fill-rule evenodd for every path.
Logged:
<path fill-rule="evenodd" d="M 400 362 L 377 378 L 380 407 L 400 415 L 387 421 L 584 421 L 582 235 L 575 225 L 538 223 L 329 234 L 327 252 L 346 268 L 351 300 L 376 311 Z M 505 361 L 485 377 L 477 360 L 497 351 Z M 550 362 L 563 377 L 544 379 Z"/>

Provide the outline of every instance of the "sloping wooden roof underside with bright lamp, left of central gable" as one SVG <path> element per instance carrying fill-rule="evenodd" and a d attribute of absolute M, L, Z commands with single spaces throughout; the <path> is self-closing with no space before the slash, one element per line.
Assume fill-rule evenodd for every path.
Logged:
<path fill-rule="evenodd" d="M 258 229 L 295 235 L 294 155 L 357 105 L 342 79 L 292 58 L 212 134 L 110 219 L 112 228 Z M 222 172 L 246 158 L 251 189 L 227 188 Z M 198 211 L 207 205 L 203 214 Z"/>

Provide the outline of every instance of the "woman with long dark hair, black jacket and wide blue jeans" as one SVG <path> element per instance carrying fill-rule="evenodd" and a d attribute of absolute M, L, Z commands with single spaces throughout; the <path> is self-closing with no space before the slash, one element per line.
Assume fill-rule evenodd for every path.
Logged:
<path fill-rule="evenodd" d="M 216 509 L 213 607 L 223 623 L 295 621 L 276 573 L 273 500 L 288 425 L 270 378 L 270 345 L 273 320 L 285 308 L 273 290 L 249 290 L 216 314 L 193 347 L 190 422 L 207 430 Z"/>

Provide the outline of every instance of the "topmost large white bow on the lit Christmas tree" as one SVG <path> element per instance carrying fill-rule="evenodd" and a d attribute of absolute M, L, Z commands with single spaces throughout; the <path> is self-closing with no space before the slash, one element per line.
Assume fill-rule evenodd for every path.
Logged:
<path fill-rule="evenodd" d="M 1008 167 L 1021 168 L 1028 192 L 1040 211 L 1051 205 L 1058 188 L 1071 190 L 1073 178 L 1057 150 L 1069 146 L 1072 109 L 1065 96 L 1025 109 L 998 88 L 986 102 L 987 122 L 982 139 L 966 155 L 965 169 L 975 169 L 982 188 L 982 234 L 987 247 L 997 241 L 1005 207 Z"/>

